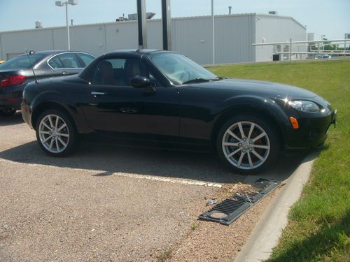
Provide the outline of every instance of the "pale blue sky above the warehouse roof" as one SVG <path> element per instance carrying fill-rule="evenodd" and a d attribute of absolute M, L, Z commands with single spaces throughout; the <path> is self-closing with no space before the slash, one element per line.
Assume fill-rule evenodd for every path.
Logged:
<path fill-rule="evenodd" d="M 69 5 L 69 21 L 73 24 L 114 22 L 116 18 L 137 13 L 137 0 L 78 0 Z M 146 0 L 146 12 L 161 18 L 161 0 Z M 216 15 L 232 13 L 268 13 L 293 17 L 307 26 L 316 38 L 343 39 L 350 34 L 350 0 L 214 0 Z M 0 32 L 33 29 L 40 20 L 43 27 L 66 25 L 64 7 L 55 0 L 0 0 Z M 211 15 L 211 0 L 171 0 L 172 17 Z"/>

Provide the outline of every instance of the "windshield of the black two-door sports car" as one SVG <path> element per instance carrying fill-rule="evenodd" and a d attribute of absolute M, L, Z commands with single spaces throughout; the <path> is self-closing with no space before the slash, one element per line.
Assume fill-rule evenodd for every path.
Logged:
<path fill-rule="evenodd" d="M 153 64 L 175 85 L 217 80 L 218 77 L 183 54 L 160 53 L 151 56 Z"/>

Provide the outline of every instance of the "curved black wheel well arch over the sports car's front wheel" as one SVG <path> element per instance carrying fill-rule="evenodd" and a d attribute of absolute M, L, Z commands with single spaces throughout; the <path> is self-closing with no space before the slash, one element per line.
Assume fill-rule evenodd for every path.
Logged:
<path fill-rule="evenodd" d="M 235 115 L 253 115 L 255 117 L 259 117 L 260 119 L 264 119 L 266 122 L 272 125 L 272 129 L 276 131 L 276 136 L 279 137 L 280 140 L 280 147 L 281 149 L 284 149 L 284 139 L 283 135 L 281 132 L 281 128 L 279 124 L 277 124 L 276 119 L 272 117 L 272 115 L 269 114 L 267 110 L 263 110 L 261 108 L 252 108 L 250 106 L 243 106 L 239 108 L 232 108 L 228 110 L 227 112 L 224 112 L 221 117 L 218 118 L 216 121 L 213 131 L 211 132 L 211 143 L 215 145 L 216 143 L 216 138 L 218 136 L 218 132 L 221 129 L 221 126 L 228 121 L 231 117 Z"/>

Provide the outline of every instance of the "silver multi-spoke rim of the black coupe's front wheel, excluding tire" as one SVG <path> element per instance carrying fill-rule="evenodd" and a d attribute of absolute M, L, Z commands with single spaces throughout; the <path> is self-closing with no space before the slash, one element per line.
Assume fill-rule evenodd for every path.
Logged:
<path fill-rule="evenodd" d="M 270 143 L 267 133 L 253 122 L 232 124 L 224 133 L 223 153 L 235 167 L 251 170 L 261 166 L 269 157 Z"/>

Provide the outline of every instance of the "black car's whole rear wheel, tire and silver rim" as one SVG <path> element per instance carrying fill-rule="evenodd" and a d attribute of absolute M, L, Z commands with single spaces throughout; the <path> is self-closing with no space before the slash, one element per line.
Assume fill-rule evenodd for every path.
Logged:
<path fill-rule="evenodd" d="M 79 145 L 78 132 L 71 118 L 60 110 L 43 112 L 36 122 L 36 140 L 51 157 L 66 157 Z"/>

